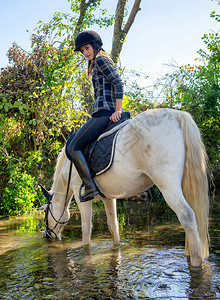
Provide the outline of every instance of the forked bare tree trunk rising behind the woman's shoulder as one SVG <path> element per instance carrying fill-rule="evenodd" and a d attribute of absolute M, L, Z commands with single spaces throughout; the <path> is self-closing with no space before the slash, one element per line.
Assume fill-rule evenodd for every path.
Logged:
<path fill-rule="evenodd" d="M 115 63 L 117 63 L 118 61 L 123 43 L 128 34 L 128 31 L 131 28 L 131 25 L 134 23 L 136 14 L 138 13 L 139 10 L 141 10 L 140 8 L 141 0 L 135 0 L 130 15 L 128 17 L 128 20 L 125 23 L 124 27 L 122 27 L 124 15 L 125 15 L 126 2 L 127 0 L 118 0 L 116 12 L 115 12 L 114 36 L 113 36 L 112 51 L 111 51 L 111 56 Z"/>

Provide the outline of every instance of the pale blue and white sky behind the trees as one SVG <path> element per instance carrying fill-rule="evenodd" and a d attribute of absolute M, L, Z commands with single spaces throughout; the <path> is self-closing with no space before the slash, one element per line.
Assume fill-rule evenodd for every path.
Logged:
<path fill-rule="evenodd" d="M 129 5 L 134 0 L 129 0 Z M 205 49 L 202 36 L 219 31 L 210 13 L 220 14 L 220 0 L 142 0 L 141 10 L 123 46 L 120 62 L 129 70 L 143 72 L 149 83 L 171 71 L 167 64 L 193 64 Z M 102 0 L 102 7 L 114 13 L 117 0 Z M 70 12 L 67 0 L 0 0 L 0 68 L 8 64 L 6 53 L 13 42 L 30 49 L 30 35 L 39 20 L 49 22 L 55 12 Z M 98 31 L 104 49 L 111 50 L 113 28 Z M 28 32 L 27 32 L 28 31 Z"/>

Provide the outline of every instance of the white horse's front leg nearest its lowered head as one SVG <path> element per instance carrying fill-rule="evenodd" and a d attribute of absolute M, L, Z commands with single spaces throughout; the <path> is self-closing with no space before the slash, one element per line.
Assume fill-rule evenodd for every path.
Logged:
<path fill-rule="evenodd" d="M 92 201 L 82 203 L 77 199 L 77 204 L 81 214 L 82 242 L 83 245 L 89 245 L 92 234 Z"/>

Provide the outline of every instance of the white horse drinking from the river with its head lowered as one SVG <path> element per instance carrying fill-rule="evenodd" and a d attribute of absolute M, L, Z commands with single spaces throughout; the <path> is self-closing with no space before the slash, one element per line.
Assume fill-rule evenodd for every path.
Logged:
<path fill-rule="evenodd" d="M 112 167 L 96 176 L 113 241 L 119 244 L 116 199 L 140 194 L 156 185 L 185 229 L 185 254 L 200 266 L 209 255 L 208 182 L 206 151 L 200 131 L 189 113 L 172 109 L 145 111 L 120 132 Z M 81 203 L 81 178 L 73 166 L 68 196 L 70 161 L 59 154 L 46 213 L 45 233 L 60 239 L 68 222 L 74 194 L 81 213 L 83 245 L 91 240 L 92 201 Z"/>

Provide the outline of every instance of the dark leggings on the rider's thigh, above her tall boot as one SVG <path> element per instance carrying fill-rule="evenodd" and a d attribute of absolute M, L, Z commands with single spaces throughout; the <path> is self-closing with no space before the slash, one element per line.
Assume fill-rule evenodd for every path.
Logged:
<path fill-rule="evenodd" d="M 67 145 L 68 153 L 83 150 L 88 143 L 100 136 L 109 122 L 109 116 L 89 119 L 89 121 L 76 132 L 73 139 Z"/>

